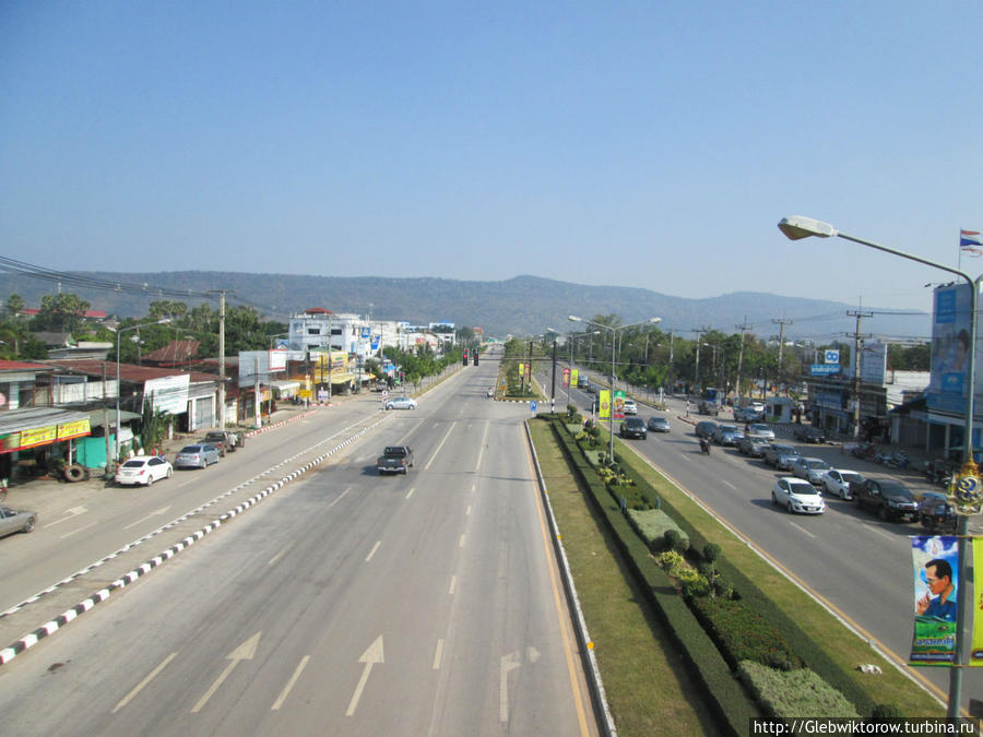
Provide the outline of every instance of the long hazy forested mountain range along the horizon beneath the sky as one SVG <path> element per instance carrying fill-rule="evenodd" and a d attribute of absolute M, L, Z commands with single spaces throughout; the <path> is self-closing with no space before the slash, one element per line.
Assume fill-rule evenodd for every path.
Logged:
<path fill-rule="evenodd" d="M 62 286 L 63 292 L 72 292 L 88 301 L 92 309 L 119 317 L 145 314 L 150 304 L 161 299 L 185 301 L 191 307 L 204 301 L 200 297 L 202 293 L 225 289 L 229 305 L 248 305 L 267 319 L 282 322 L 305 309 L 323 307 L 334 312 L 371 314 L 414 324 L 448 321 L 458 326 L 482 326 L 490 336 L 531 335 L 548 329 L 568 332 L 578 329 L 567 320 L 570 314 L 588 319 L 616 314 L 621 324 L 658 316 L 662 318 L 662 330 L 675 330 L 688 336 L 694 330 L 706 328 L 736 333 L 742 324 L 747 324 L 749 333 L 767 338 L 779 334 L 778 320 L 786 322 L 785 336 L 791 338 L 829 341 L 852 336 L 856 331 L 856 320 L 848 311 L 855 312 L 857 308 L 843 302 L 756 292 L 694 299 L 638 287 L 587 286 L 538 276 L 516 276 L 500 282 L 192 271 L 71 272 L 71 276 L 81 277 L 87 284 L 142 285 L 143 290 L 138 294 L 76 286 L 80 282 Z M 19 294 L 27 307 L 38 307 L 42 296 L 55 294 L 58 288 L 54 281 L 0 273 L 0 297 Z M 176 293 L 199 296 L 185 298 Z M 217 305 L 217 296 L 211 301 Z M 876 307 L 862 310 L 874 313 L 864 318 L 865 335 L 891 340 L 931 336 L 928 313 Z"/>

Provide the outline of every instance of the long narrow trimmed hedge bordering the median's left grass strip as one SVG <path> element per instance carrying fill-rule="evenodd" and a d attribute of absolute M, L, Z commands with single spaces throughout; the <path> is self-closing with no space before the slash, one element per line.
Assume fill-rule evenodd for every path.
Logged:
<path fill-rule="evenodd" d="M 676 639 L 687 667 L 706 687 L 708 701 L 721 729 L 726 734 L 743 735 L 747 730 L 748 720 L 760 716 L 760 710 L 734 677 L 726 661 L 686 602 L 676 593 L 672 580 L 652 560 L 648 546 L 635 534 L 628 520 L 618 509 L 617 502 L 583 457 L 573 438 L 559 429 L 560 425 L 552 423 L 554 435 L 567 461 L 575 468 L 582 486 L 589 490 L 589 498 L 593 500 L 595 508 L 604 515 L 614 532 L 629 570 L 642 590 L 648 593 L 649 603 L 654 611 Z"/>

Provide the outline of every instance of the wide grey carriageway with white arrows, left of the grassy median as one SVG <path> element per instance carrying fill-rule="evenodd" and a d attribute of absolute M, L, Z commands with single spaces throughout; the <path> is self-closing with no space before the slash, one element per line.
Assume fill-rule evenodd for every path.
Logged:
<path fill-rule="evenodd" d="M 387 413 L 331 463 L 3 666 L 0 730 L 596 734 L 526 411 L 487 399 L 496 368 L 469 367 L 417 411 Z M 333 421 L 315 415 L 246 454 L 270 467 Z M 378 476 L 378 451 L 403 443 L 415 467 Z M 226 487 L 239 479 L 229 473 Z"/>

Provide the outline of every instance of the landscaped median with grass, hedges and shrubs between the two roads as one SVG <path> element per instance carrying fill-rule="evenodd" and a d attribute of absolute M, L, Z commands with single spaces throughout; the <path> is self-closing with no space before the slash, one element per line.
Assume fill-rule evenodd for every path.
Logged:
<path fill-rule="evenodd" d="M 727 688 L 720 673 L 694 674 L 699 668 L 691 654 L 683 651 L 687 638 L 699 642 L 699 635 L 676 631 L 689 627 L 678 611 L 659 611 L 675 604 L 665 596 L 666 586 L 653 594 L 660 589 L 652 589 L 660 575 L 653 572 L 656 564 L 672 581 L 676 604 L 687 601 L 695 619 L 712 632 L 727 665 L 727 680 L 741 682 L 743 693 L 762 714 L 785 715 L 792 709 L 798 710 L 797 715 L 944 715 L 921 688 L 620 441 L 615 451 L 619 463 L 606 474 L 607 486 L 589 489 L 579 478 L 583 468 L 576 469 L 564 454 L 559 431 L 554 435 L 545 420 L 531 423 L 531 429 L 619 734 L 675 729 L 680 723 L 677 711 L 670 715 L 651 706 L 664 701 L 666 692 L 677 694 L 675 705 L 684 714 L 710 718 L 707 714 L 713 704 L 708 689 L 691 685 L 715 679 L 710 691 Z M 590 447 L 590 436 L 582 442 Z M 597 451 L 588 450 L 584 457 L 591 453 L 595 456 L 591 463 L 604 461 Z M 600 497 L 599 487 L 603 489 Z M 624 514 L 613 502 L 615 497 L 624 498 Z M 619 539 L 626 530 L 635 543 Z M 626 550 L 630 550 L 627 557 Z M 639 581 L 640 566 L 630 560 L 632 556 L 648 559 L 642 562 L 649 567 L 648 579 Z M 654 655 L 654 650 L 661 654 Z M 861 664 L 878 666 L 881 675 L 861 673 Z M 684 686 L 687 682 L 689 688 Z M 803 689 L 815 694 L 812 709 L 808 701 L 794 701 Z M 660 722 L 663 718 L 665 724 Z M 732 714 L 730 718 L 733 725 L 743 717 Z M 712 724 L 709 729 L 694 727 L 690 734 L 720 730 L 716 720 Z"/>

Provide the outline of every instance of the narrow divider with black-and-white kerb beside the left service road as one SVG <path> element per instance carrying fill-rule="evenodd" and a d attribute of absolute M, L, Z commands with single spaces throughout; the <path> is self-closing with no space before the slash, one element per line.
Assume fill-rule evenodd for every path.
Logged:
<path fill-rule="evenodd" d="M 186 538 L 182 539 L 181 542 L 179 542 L 179 543 L 177 543 L 177 544 L 170 546 L 170 547 L 167 548 L 166 550 L 163 550 L 163 551 L 159 552 L 157 556 L 155 556 L 154 558 L 147 560 L 147 561 L 144 562 L 143 564 L 141 564 L 141 566 L 134 568 L 134 569 L 133 569 L 132 571 L 130 571 L 129 573 L 126 573 L 125 575 L 120 576 L 119 579 L 117 579 L 116 581 L 114 581 L 111 584 L 109 584 L 109 585 L 106 586 L 105 589 L 100 589 L 99 591 L 97 591 L 97 592 L 95 592 L 94 594 L 92 594 L 88 598 L 84 599 L 83 602 L 80 602 L 80 603 L 76 604 L 75 606 L 73 606 L 73 607 L 71 607 L 70 609 L 63 611 L 61 615 L 59 615 L 58 617 L 56 617 L 56 618 L 52 619 L 51 621 L 49 621 L 49 622 L 43 625 L 42 627 L 37 628 L 37 629 L 34 630 L 33 632 L 29 632 L 28 634 L 25 634 L 24 637 L 20 638 L 16 642 L 12 643 L 12 644 L 9 645 L 8 647 L 4 647 L 3 650 L 0 650 L 0 665 L 7 665 L 7 664 L 10 663 L 14 657 L 16 657 L 17 655 L 20 655 L 21 653 L 23 653 L 25 650 L 28 650 L 28 649 L 33 647 L 34 645 L 36 645 L 36 644 L 38 643 L 38 641 L 43 640 L 44 638 L 46 638 L 46 637 L 48 637 L 48 635 L 50 635 L 50 634 L 54 634 L 54 633 L 57 632 L 59 629 L 61 629 L 62 627 L 64 627 L 66 625 L 68 625 L 69 622 L 71 622 L 72 620 L 76 619 L 76 618 L 80 617 L 81 615 L 85 614 L 86 611 L 88 611 L 90 609 L 92 609 L 93 607 L 95 607 L 96 604 L 100 604 L 100 603 L 105 602 L 107 598 L 109 598 L 109 596 L 110 596 L 111 594 L 116 593 L 117 591 L 119 591 L 119 590 L 121 590 L 121 589 L 125 589 L 125 587 L 128 586 L 129 584 L 131 584 L 131 583 L 133 583 L 134 581 L 137 581 L 140 576 L 142 576 L 142 575 L 144 575 L 144 574 L 146 574 L 146 573 L 150 573 L 150 572 L 151 572 L 152 570 L 154 570 L 157 566 L 161 566 L 162 563 L 164 563 L 164 562 L 170 560 L 171 558 L 174 558 L 177 554 L 181 552 L 182 550 L 187 550 L 191 545 L 193 545 L 194 543 L 197 543 L 198 540 L 200 540 L 201 538 L 203 538 L 205 535 L 208 535 L 209 533 L 214 532 L 215 530 L 217 530 L 223 523 L 232 522 L 236 516 L 238 516 L 239 514 L 241 514 L 242 512 L 245 512 L 246 510 L 248 510 L 250 507 L 256 506 L 257 503 L 259 503 L 260 501 L 262 501 L 263 499 L 265 499 L 267 497 L 269 497 L 270 495 L 272 495 L 274 491 L 277 491 L 279 489 L 283 488 L 284 486 L 286 486 L 287 484 L 289 484 L 291 482 L 293 482 L 294 479 L 296 479 L 296 478 L 303 476 L 303 475 L 306 474 L 308 471 L 310 471 L 310 469 L 313 468 L 315 466 L 319 465 L 321 462 L 323 462 L 323 461 L 327 460 L 328 457 L 334 455 L 335 453 L 337 453 L 337 452 L 341 451 L 342 449 L 346 448 L 348 444 L 351 444 L 351 443 L 355 442 L 356 440 L 358 440 L 359 438 L 362 438 L 364 435 L 366 435 L 367 432 L 369 432 L 369 430 L 372 430 L 374 428 L 376 428 L 376 427 L 378 427 L 379 425 L 381 425 L 382 423 L 384 423 L 387 419 L 389 419 L 389 415 L 383 416 L 381 419 L 376 420 L 375 423 L 372 423 L 371 425 L 369 425 L 369 426 L 367 426 L 367 427 L 364 427 L 360 431 L 358 431 L 358 432 L 356 432 L 355 435 L 351 436 L 350 438 L 345 439 L 343 442 L 341 442 L 340 444 L 335 445 L 334 448 L 332 448 L 331 450 L 329 450 L 327 453 L 322 453 L 321 455 L 317 456 L 317 457 L 313 459 L 312 461 L 309 461 L 308 463 L 305 463 L 303 466 L 300 466 L 299 468 L 297 468 L 297 469 L 293 471 L 292 473 L 287 474 L 286 476 L 284 476 L 284 477 L 281 478 L 280 480 L 274 482 L 273 484 L 271 484 L 270 486 L 268 486 L 267 488 L 264 488 L 262 491 L 260 491 L 260 492 L 257 494 L 256 496 L 251 497 L 250 499 L 247 499 L 247 500 L 244 501 L 241 504 L 237 506 L 237 507 L 234 508 L 234 509 L 230 509 L 229 511 L 225 512 L 224 514 L 222 514 L 222 515 L 218 516 L 217 519 L 213 520 L 212 522 L 210 522 L 209 524 L 206 524 L 206 525 L 205 525 L 204 527 L 202 527 L 201 530 L 199 530 L 199 531 L 197 531 L 196 533 L 189 535 L 188 537 L 186 537 Z M 236 489 L 238 489 L 238 488 L 241 488 L 241 486 L 236 487 Z M 233 491 L 235 491 L 236 489 L 234 489 Z M 232 494 L 232 492 L 228 492 L 228 494 Z M 226 494 L 226 495 L 223 495 L 223 497 L 225 497 L 225 496 L 227 496 L 227 494 Z M 214 500 L 211 501 L 211 502 L 209 502 L 209 503 L 205 504 L 204 507 L 211 506 L 212 503 L 214 503 Z M 192 514 L 197 513 L 197 512 L 200 511 L 201 509 L 204 509 L 204 507 L 199 507 L 197 510 L 193 510 L 192 512 L 189 512 L 189 513 L 186 514 L 185 516 L 180 518 L 180 520 L 185 520 L 185 519 L 191 516 Z M 137 544 L 139 544 L 139 543 L 143 542 L 144 539 L 146 539 L 146 538 L 149 538 L 149 537 L 151 537 L 151 536 L 153 536 L 153 535 L 155 535 L 155 534 L 162 532 L 163 530 L 166 530 L 167 527 L 173 526 L 174 524 L 176 524 L 176 523 L 179 522 L 180 520 L 177 520 L 177 521 L 175 521 L 175 522 L 173 522 L 173 523 L 166 525 L 165 527 L 162 527 L 161 530 L 155 531 L 155 532 L 152 533 L 151 535 L 147 535 L 146 537 L 141 538 L 140 540 L 138 540 Z M 86 569 L 86 571 L 87 571 L 87 570 L 92 570 L 92 568 L 95 568 L 95 566 L 102 564 L 102 563 L 105 562 L 106 560 L 109 560 L 109 559 L 111 559 L 111 558 L 115 558 L 115 557 L 118 556 L 120 552 L 123 552 L 123 551 L 130 549 L 131 547 L 132 547 L 132 545 L 131 545 L 131 546 L 127 546 L 126 548 L 122 548 L 121 550 L 119 550 L 119 551 L 112 554 L 111 556 L 109 556 L 109 557 L 107 557 L 107 558 L 104 558 L 104 559 L 100 560 L 98 563 L 96 563 L 96 564 L 90 567 L 88 569 Z M 84 572 L 84 571 L 83 571 L 83 572 Z M 76 573 L 75 575 L 73 575 L 73 576 L 71 576 L 71 578 L 69 578 L 69 579 L 66 579 L 64 582 L 68 582 L 68 581 L 71 581 L 71 580 L 78 578 L 79 575 L 81 575 L 81 573 L 82 573 L 82 572 Z M 62 582 L 62 583 L 64 583 L 64 582 Z M 46 591 L 51 591 L 51 590 L 54 590 L 54 587 L 52 587 L 52 589 L 49 589 L 49 590 L 46 590 Z M 28 599 L 28 601 L 35 601 L 35 599 Z M 19 605 L 19 607 L 20 607 L 20 606 L 23 606 L 23 605 Z"/>

